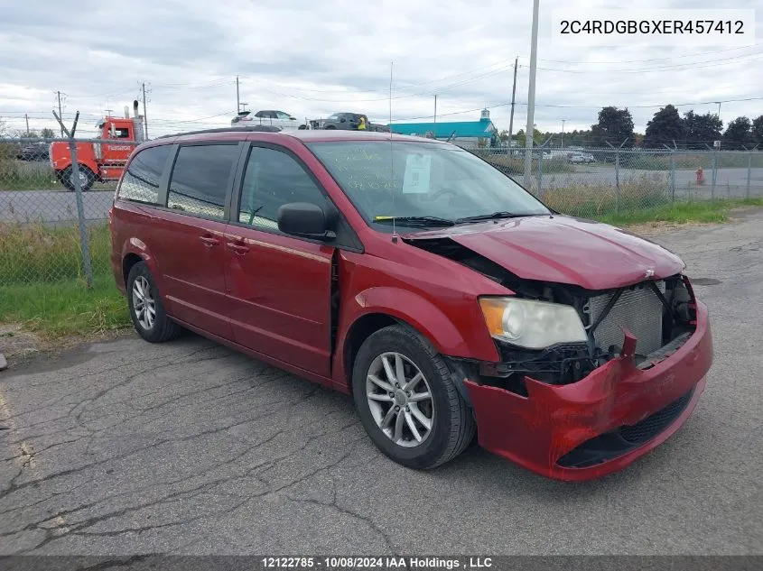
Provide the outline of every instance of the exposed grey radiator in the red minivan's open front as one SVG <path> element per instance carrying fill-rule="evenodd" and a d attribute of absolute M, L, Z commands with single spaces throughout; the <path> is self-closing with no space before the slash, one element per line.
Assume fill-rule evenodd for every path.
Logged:
<path fill-rule="evenodd" d="M 657 288 L 665 293 L 665 281 L 657 281 Z M 590 323 L 595 323 L 607 307 L 614 293 L 589 299 Z M 609 314 L 596 327 L 593 338 L 602 351 L 609 346 L 622 346 L 625 327 L 637 338 L 636 351 L 639 355 L 649 355 L 663 344 L 663 305 L 655 292 L 645 284 L 624 290 Z"/>

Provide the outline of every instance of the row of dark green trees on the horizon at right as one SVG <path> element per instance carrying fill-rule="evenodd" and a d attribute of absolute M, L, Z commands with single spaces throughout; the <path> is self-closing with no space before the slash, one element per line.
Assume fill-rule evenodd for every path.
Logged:
<path fill-rule="evenodd" d="M 633 116 L 628 107 L 618 108 L 615 106 L 602 107 L 599 112 L 598 122 L 591 125 L 591 129 L 573 130 L 568 133 L 542 133 L 535 129 L 533 141 L 535 144 L 548 142 L 549 146 L 564 147 L 606 147 L 609 145 L 623 148 L 662 149 L 665 146 L 671 149 L 682 150 L 707 150 L 713 142 L 721 141 L 721 149 L 739 150 L 752 149 L 758 145 L 763 149 L 763 115 L 755 119 L 740 116 L 726 125 L 718 115 L 705 113 L 699 115 L 689 110 L 684 115 L 679 115 L 678 109 L 673 105 L 662 107 L 647 123 L 647 130 L 643 134 L 634 131 Z M 507 142 L 508 134 L 501 132 L 499 138 Z M 516 143 L 525 146 L 525 132 L 520 130 L 516 134 Z M 609 143 L 609 144 L 608 144 Z"/>

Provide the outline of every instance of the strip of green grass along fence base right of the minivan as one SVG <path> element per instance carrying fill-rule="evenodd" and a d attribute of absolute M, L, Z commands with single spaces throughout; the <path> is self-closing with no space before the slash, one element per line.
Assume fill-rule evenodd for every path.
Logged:
<path fill-rule="evenodd" d="M 763 207 L 763 198 L 730 198 L 675 202 L 642 210 L 622 211 L 597 216 L 600 222 L 615 226 L 667 222 L 673 224 L 727 222 L 730 210 L 740 207 Z"/>

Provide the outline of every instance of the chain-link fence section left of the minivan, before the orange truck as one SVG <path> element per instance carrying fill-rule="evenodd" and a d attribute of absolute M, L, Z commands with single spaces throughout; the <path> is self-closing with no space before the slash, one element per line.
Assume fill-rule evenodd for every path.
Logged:
<path fill-rule="evenodd" d="M 118 153 L 112 152 L 116 145 Z M 133 145 L 0 138 L 0 287 L 46 281 L 88 286 L 107 276 L 108 209 L 124 162 L 109 156 L 124 157 Z"/>

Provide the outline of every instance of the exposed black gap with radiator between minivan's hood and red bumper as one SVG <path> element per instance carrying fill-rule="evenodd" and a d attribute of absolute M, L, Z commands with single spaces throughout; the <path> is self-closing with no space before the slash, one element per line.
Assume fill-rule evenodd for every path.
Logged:
<path fill-rule="evenodd" d="M 629 358 L 646 370 L 673 355 L 696 330 L 693 292 L 683 275 L 604 291 L 563 284 L 514 283 L 508 287 L 522 298 L 571 305 L 578 311 L 587 336 L 585 342 L 540 350 L 498 341 L 500 361 L 479 363 L 476 372 L 484 384 L 522 396 L 527 396 L 526 376 L 552 385 L 581 381 L 625 355 L 628 336 L 635 345 Z"/>

